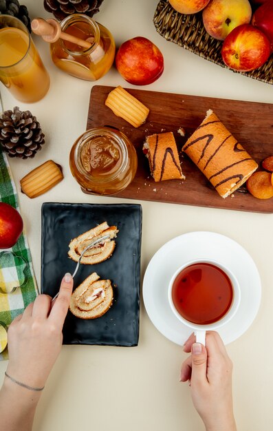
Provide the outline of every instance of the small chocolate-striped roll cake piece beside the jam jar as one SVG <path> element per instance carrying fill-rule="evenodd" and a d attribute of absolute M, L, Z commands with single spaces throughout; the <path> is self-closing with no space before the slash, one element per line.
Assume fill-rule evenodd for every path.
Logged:
<path fill-rule="evenodd" d="M 143 152 L 149 160 L 151 175 L 156 182 L 185 179 L 173 132 L 147 136 Z"/>

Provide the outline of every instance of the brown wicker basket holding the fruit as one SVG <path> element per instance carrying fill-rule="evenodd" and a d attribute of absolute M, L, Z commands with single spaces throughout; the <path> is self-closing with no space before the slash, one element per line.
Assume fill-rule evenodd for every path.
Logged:
<path fill-rule="evenodd" d="M 177 43 L 191 52 L 228 68 L 221 58 L 222 42 L 211 37 L 205 30 L 201 12 L 197 14 L 180 14 L 167 0 L 160 0 L 155 10 L 153 23 L 157 32 L 167 41 Z M 235 72 L 232 70 L 232 72 Z M 273 55 L 267 62 L 252 72 L 235 72 L 250 78 L 273 84 Z"/>

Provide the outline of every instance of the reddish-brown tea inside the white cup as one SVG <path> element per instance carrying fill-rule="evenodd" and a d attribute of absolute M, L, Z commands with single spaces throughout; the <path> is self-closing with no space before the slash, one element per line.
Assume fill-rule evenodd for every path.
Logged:
<path fill-rule="evenodd" d="M 177 274 L 171 295 L 180 316 L 193 324 L 208 325 L 228 313 L 234 290 L 223 269 L 208 262 L 197 262 Z"/>

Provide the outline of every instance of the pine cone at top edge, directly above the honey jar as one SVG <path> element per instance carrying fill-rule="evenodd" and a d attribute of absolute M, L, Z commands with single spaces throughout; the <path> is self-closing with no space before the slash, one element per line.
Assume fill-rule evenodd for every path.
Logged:
<path fill-rule="evenodd" d="M 102 0 L 43 0 L 45 10 L 52 12 L 60 21 L 71 14 L 93 17 L 99 11 L 101 3 Z"/>

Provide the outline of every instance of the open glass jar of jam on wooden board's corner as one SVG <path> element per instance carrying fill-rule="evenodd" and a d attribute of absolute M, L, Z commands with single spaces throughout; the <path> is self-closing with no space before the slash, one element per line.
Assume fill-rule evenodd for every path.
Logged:
<path fill-rule="evenodd" d="M 83 191 L 113 195 L 125 189 L 135 177 L 138 156 L 122 132 L 98 127 L 87 130 L 76 140 L 69 165 Z"/>

